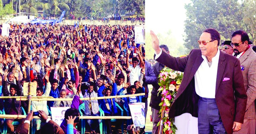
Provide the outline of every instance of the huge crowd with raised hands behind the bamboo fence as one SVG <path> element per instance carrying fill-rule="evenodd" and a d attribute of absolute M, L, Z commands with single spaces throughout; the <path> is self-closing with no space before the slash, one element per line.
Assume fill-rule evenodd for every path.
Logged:
<path fill-rule="evenodd" d="M 2 25 L 0 33 L 1 29 Z M 0 94 L 23 96 L 24 83 L 36 82 L 36 96 L 74 98 L 73 101 L 32 101 L 31 104 L 32 111 L 39 111 L 42 117 L 33 119 L 38 133 L 43 133 L 44 126 L 54 124 L 46 117 L 51 107 L 71 107 L 65 112 L 62 130 L 57 131 L 55 125 L 51 127 L 56 128 L 54 133 L 67 134 L 70 132 L 68 120 L 80 116 L 81 104 L 85 105 L 83 116 L 100 116 L 100 108 L 105 116 L 113 116 L 120 112 L 116 105 L 129 109 L 129 103 L 145 101 L 145 96 L 80 101 L 80 97 L 144 93 L 144 59 L 144 44 L 134 42 L 134 26 L 12 25 L 9 36 L 0 36 Z M 0 110 L 5 114 L 22 114 L 22 108 L 28 108 L 28 101 L 0 99 Z M 27 128 L 33 112 L 27 113 L 27 119 L 6 119 L 8 133 L 20 133 L 21 128 Z M 17 128 L 12 124 L 14 121 L 20 122 Z M 89 132 L 95 133 L 100 122 L 101 119 L 87 119 Z M 76 124 L 72 124 L 73 133 L 79 134 Z M 111 134 L 110 120 L 106 124 L 107 133 Z"/>

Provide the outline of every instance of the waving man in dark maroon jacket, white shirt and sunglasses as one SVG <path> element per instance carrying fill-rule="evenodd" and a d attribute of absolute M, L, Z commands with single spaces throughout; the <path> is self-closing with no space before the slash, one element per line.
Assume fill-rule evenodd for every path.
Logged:
<path fill-rule="evenodd" d="M 184 58 L 163 52 L 157 36 L 153 31 L 150 34 L 156 61 L 184 72 L 169 117 L 183 113 L 198 117 L 199 134 L 239 131 L 247 95 L 239 60 L 218 49 L 219 32 L 212 28 L 204 30 L 198 40 L 200 49 L 191 50 Z"/>

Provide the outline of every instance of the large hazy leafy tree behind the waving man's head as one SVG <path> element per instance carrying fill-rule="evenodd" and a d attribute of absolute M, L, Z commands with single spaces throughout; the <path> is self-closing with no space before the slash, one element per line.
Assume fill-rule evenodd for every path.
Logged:
<path fill-rule="evenodd" d="M 186 4 L 185 46 L 188 50 L 198 48 L 197 40 L 207 28 L 216 29 L 221 40 L 230 40 L 236 30 L 245 28 L 242 5 L 238 0 L 191 0 Z"/>

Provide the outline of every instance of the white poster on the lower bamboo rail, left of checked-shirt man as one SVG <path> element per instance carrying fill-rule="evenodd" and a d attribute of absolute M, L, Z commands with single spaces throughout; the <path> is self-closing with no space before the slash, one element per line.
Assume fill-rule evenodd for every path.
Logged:
<path fill-rule="evenodd" d="M 52 120 L 58 125 L 65 119 L 65 112 L 69 107 L 51 107 Z"/>

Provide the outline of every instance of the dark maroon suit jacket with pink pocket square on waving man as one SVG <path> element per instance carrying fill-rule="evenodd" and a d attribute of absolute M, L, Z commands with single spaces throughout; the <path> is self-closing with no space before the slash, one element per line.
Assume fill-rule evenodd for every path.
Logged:
<path fill-rule="evenodd" d="M 162 52 L 156 60 L 171 69 L 184 72 L 180 88 L 170 108 L 169 117 L 183 113 L 191 113 L 192 116 L 198 117 L 199 96 L 195 91 L 194 75 L 203 61 L 201 50 L 193 49 L 185 58 L 175 58 Z M 230 80 L 223 81 L 225 77 Z M 219 56 L 215 100 L 226 132 L 233 133 L 233 122 L 244 122 L 247 95 L 239 60 L 222 51 Z"/>

